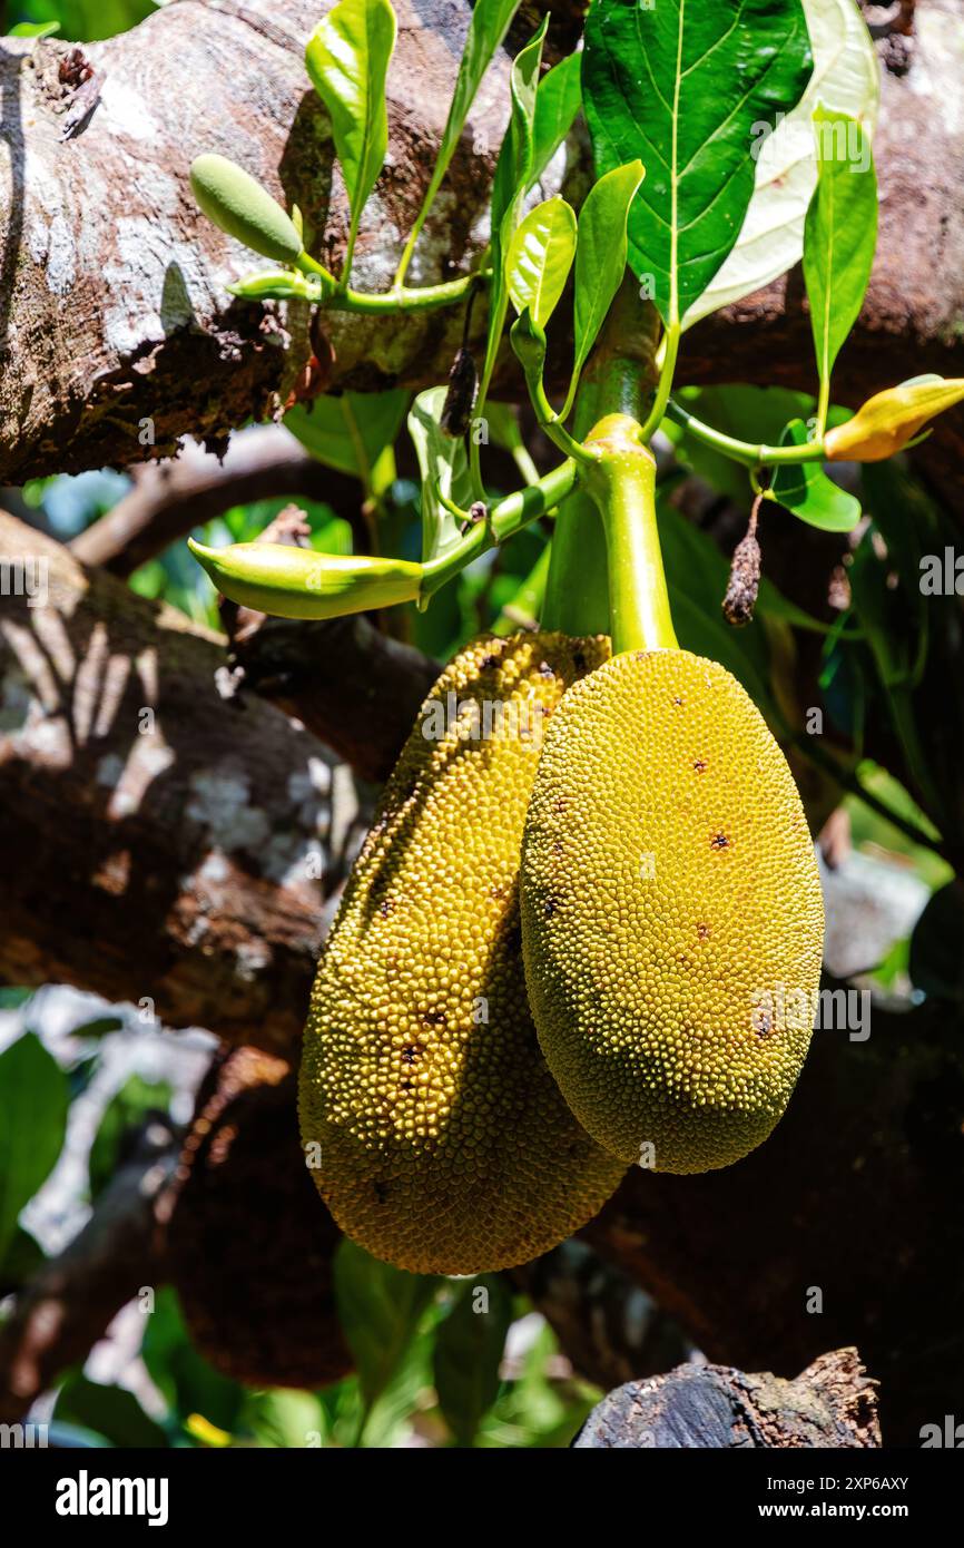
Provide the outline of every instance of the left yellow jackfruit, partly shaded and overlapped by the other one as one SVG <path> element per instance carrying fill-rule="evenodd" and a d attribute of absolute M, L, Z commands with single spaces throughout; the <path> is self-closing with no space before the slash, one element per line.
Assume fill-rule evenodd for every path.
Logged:
<path fill-rule="evenodd" d="M 518 926 L 543 726 L 607 655 L 602 639 L 521 635 L 452 663 L 326 941 L 305 1031 L 302 1139 L 319 1142 L 314 1176 L 342 1229 L 399 1268 L 528 1262 L 585 1224 L 625 1170 L 546 1068 Z M 475 735 L 486 715 L 491 734 Z"/>

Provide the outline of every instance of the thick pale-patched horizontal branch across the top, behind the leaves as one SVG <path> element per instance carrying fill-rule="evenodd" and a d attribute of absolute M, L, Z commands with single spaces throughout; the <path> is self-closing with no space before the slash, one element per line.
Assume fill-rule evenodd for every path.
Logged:
<path fill-rule="evenodd" d="M 57 70 L 67 45 L 3 40 L 11 180 L 0 190 L 0 481 L 166 455 L 186 432 L 218 437 L 249 415 L 271 413 L 285 396 L 306 354 L 305 308 L 227 296 L 226 283 L 258 260 L 198 215 L 187 167 L 201 150 L 232 155 L 272 192 L 297 200 L 337 255 L 344 192 L 302 63 L 325 9 L 328 0 L 175 0 L 135 31 L 90 45 L 105 71 L 101 101 L 82 133 L 65 141 Z M 404 0 L 398 9 L 388 166 L 359 243 L 367 288 L 391 279 L 430 173 L 469 17 L 467 0 L 419 8 Z M 568 43 L 573 8 L 562 9 L 566 20 L 554 20 L 551 34 L 563 40 L 565 33 Z M 532 20 L 523 9 L 511 48 Z M 843 401 L 922 370 L 964 375 L 964 128 L 953 113 L 962 33 L 956 0 L 918 0 L 907 46 L 888 56 L 901 73 L 887 71 L 884 82 L 880 241 L 863 316 L 836 376 Z M 501 51 L 473 108 L 413 283 L 464 271 L 486 241 L 508 60 Z M 560 178 L 577 194 L 586 167 L 585 139 L 576 136 L 546 175 L 545 194 L 557 192 Z M 441 381 L 460 325 L 447 313 L 391 330 L 333 317 L 333 384 Z M 812 389 L 811 359 L 795 271 L 689 334 L 681 370 L 692 381 Z M 153 424 L 153 446 L 138 440 L 142 420 Z M 928 447 L 930 472 L 958 508 L 952 472 L 962 452 L 958 412 L 941 421 Z"/>

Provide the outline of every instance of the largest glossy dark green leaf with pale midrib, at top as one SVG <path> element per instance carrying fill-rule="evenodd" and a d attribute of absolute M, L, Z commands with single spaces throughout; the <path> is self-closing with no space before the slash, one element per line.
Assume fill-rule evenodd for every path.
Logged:
<path fill-rule="evenodd" d="M 641 159 L 630 263 L 673 325 L 732 251 L 754 194 L 750 135 L 792 108 L 812 56 L 800 0 L 596 0 L 582 90 L 597 173 Z"/>

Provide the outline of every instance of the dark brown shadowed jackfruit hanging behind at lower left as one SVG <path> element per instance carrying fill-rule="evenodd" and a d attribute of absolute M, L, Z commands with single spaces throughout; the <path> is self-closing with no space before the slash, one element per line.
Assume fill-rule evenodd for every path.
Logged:
<path fill-rule="evenodd" d="M 167 1262 L 198 1350 L 249 1387 L 351 1370 L 333 1289 L 342 1240 L 305 1173 L 291 1065 L 235 1048 L 198 1091 L 164 1203 Z"/>

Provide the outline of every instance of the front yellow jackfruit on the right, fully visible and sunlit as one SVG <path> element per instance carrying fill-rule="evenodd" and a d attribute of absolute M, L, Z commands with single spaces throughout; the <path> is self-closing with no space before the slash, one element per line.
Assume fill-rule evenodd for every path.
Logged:
<path fill-rule="evenodd" d="M 566 695 L 521 920 L 543 1053 L 599 1144 L 706 1172 L 766 1139 L 809 1046 L 823 902 L 791 771 L 724 667 L 633 652 Z"/>

